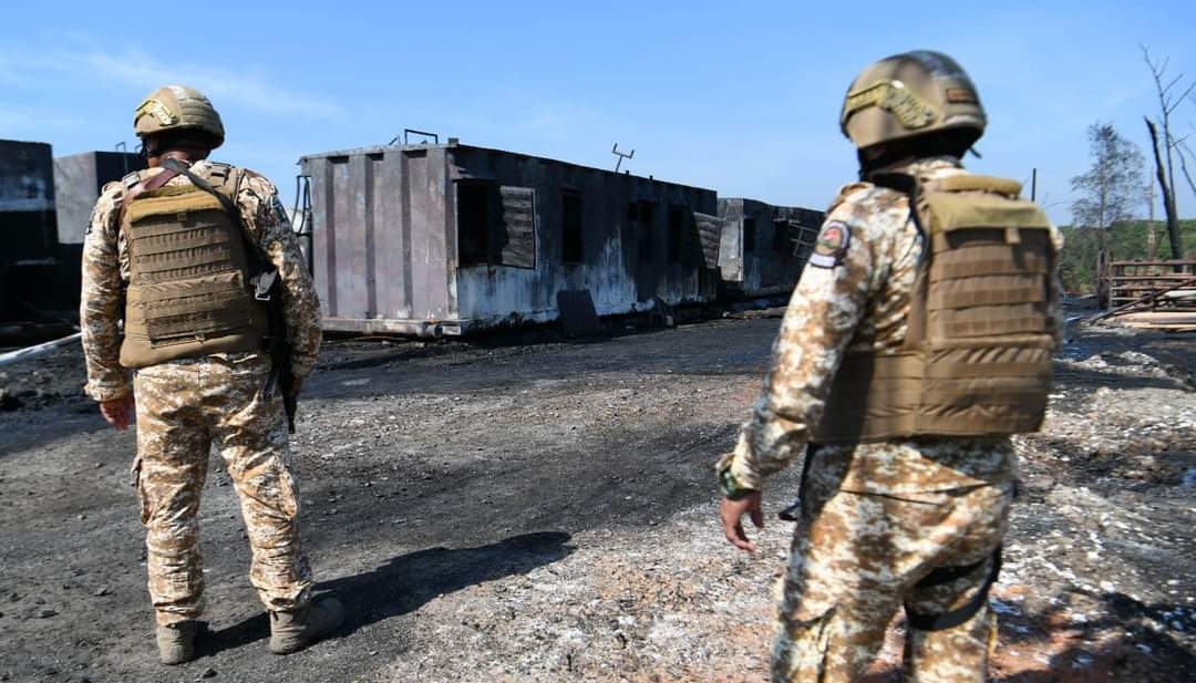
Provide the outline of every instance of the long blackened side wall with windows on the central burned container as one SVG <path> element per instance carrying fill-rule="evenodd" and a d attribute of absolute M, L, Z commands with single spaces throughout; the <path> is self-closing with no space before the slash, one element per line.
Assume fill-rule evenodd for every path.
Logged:
<path fill-rule="evenodd" d="M 715 208 L 714 191 L 496 150 L 454 146 L 450 155 L 458 230 L 460 189 L 469 183 L 499 189 L 500 239 L 509 240 L 501 225 L 511 222 L 511 207 L 502 203 L 508 197 L 530 202 L 535 221 L 531 262 L 512 266 L 500 250 L 484 263 L 458 262 L 460 318 L 483 327 L 554 319 L 561 291 L 590 292 L 598 315 L 642 310 L 653 299 L 678 304 L 716 294 L 694 218 Z"/>

